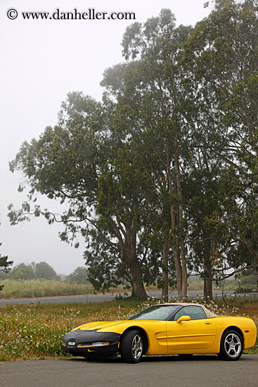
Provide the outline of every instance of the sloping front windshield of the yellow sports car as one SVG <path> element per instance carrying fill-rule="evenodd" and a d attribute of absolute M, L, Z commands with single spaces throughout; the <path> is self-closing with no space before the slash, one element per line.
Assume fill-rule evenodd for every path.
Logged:
<path fill-rule="evenodd" d="M 169 316 L 179 310 L 179 305 L 154 305 L 129 317 L 129 320 L 161 320 L 165 321 Z"/>

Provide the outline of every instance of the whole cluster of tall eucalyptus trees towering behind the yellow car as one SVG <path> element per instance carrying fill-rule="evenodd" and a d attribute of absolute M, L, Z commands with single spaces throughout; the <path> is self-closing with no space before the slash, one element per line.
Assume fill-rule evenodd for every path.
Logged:
<path fill-rule="evenodd" d="M 258 6 L 216 0 L 195 28 L 163 9 L 127 27 L 125 62 L 105 70 L 103 99 L 71 92 L 58 125 L 22 144 L 11 171 L 30 188 L 11 224 L 43 215 L 84 238 L 98 290 L 187 296 L 258 266 Z M 60 215 L 37 194 L 65 203 Z M 230 274 L 228 274 L 230 272 Z"/>

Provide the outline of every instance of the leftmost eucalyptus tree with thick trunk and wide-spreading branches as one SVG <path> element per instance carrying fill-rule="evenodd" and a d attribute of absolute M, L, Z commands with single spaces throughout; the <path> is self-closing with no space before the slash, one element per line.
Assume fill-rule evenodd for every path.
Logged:
<path fill-rule="evenodd" d="M 30 191 L 20 210 L 9 206 L 9 217 L 11 224 L 30 220 L 32 215 L 43 215 L 50 224 L 63 223 L 60 238 L 76 247 L 81 234 L 89 249 L 86 263 L 92 255 L 95 267 L 102 264 L 105 254 L 108 260 L 115 251 L 117 262 L 127 268 L 124 274 L 129 270 L 133 295 L 146 298 L 142 267 L 147 254 L 138 254 L 138 245 L 150 213 L 150 184 L 127 144 L 127 134 L 122 127 L 120 131 L 114 127 L 113 109 L 112 101 L 101 104 L 80 93 L 68 94 L 58 125 L 46 127 L 38 140 L 22 144 L 10 163 L 12 171 L 22 170 L 26 177 L 19 190 L 29 186 Z M 34 203 L 37 194 L 59 201 L 63 212 L 41 209 Z"/>

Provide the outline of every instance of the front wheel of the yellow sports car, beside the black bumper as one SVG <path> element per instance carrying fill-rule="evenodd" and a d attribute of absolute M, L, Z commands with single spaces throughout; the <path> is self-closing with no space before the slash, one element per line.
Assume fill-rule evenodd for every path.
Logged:
<path fill-rule="evenodd" d="M 140 331 L 128 331 L 124 334 L 120 344 L 120 353 L 124 362 L 141 362 L 143 338 Z"/>

